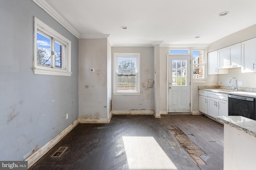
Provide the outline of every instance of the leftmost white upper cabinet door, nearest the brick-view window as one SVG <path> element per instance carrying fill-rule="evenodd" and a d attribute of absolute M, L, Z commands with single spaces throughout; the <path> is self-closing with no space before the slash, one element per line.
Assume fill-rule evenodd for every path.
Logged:
<path fill-rule="evenodd" d="M 218 51 L 208 53 L 208 74 L 218 74 Z"/>

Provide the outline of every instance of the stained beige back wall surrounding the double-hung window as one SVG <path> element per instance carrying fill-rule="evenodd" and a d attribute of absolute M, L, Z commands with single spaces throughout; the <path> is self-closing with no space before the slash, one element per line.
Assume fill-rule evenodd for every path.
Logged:
<path fill-rule="evenodd" d="M 154 87 L 148 88 L 148 80 L 154 80 L 154 48 L 153 47 L 112 47 L 112 59 L 113 59 L 113 53 L 140 53 L 140 92 L 141 94 L 139 96 L 113 95 L 112 110 L 126 111 L 126 110 L 132 110 L 132 109 L 138 109 L 138 110 L 154 109 Z"/>

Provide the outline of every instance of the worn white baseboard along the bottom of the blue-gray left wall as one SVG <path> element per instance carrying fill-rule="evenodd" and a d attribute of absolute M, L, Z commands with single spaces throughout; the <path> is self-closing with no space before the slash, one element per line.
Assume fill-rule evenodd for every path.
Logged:
<path fill-rule="evenodd" d="M 48 143 L 38 148 L 35 152 L 30 154 L 25 161 L 28 161 L 28 168 L 30 168 L 36 161 L 38 161 L 44 154 L 46 154 L 54 145 L 56 145 L 68 132 L 70 132 L 76 125 L 79 123 L 79 120 L 76 119 L 72 124 L 70 124 L 66 129 L 60 132 L 56 137 L 50 140 Z"/>

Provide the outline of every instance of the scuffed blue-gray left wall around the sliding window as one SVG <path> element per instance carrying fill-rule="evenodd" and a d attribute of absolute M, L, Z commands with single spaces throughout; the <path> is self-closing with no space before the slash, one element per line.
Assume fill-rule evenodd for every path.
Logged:
<path fill-rule="evenodd" d="M 71 76 L 33 73 L 34 16 L 72 41 Z M 78 39 L 32 0 L 0 0 L 0 23 L 0 160 L 24 160 L 78 118 Z"/>

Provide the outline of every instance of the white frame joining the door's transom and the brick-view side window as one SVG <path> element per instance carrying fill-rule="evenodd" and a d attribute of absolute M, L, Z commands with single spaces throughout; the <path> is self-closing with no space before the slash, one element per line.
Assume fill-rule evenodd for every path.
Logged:
<path fill-rule="evenodd" d="M 183 46 L 183 47 L 169 47 L 169 54 L 170 50 L 189 50 L 189 53 L 185 54 L 191 54 L 191 80 L 193 83 L 206 83 L 207 81 L 207 57 L 206 54 L 208 53 L 207 47 L 205 46 L 196 46 L 196 47 L 189 47 L 189 46 Z M 204 50 L 204 64 L 196 64 L 196 65 L 204 65 L 204 78 L 193 78 L 193 69 L 194 69 L 194 64 L 192 63 L 193 61 L 193 51 L 200 51 Z M 174 54 L 172 54 L 174 55 Z"/>

